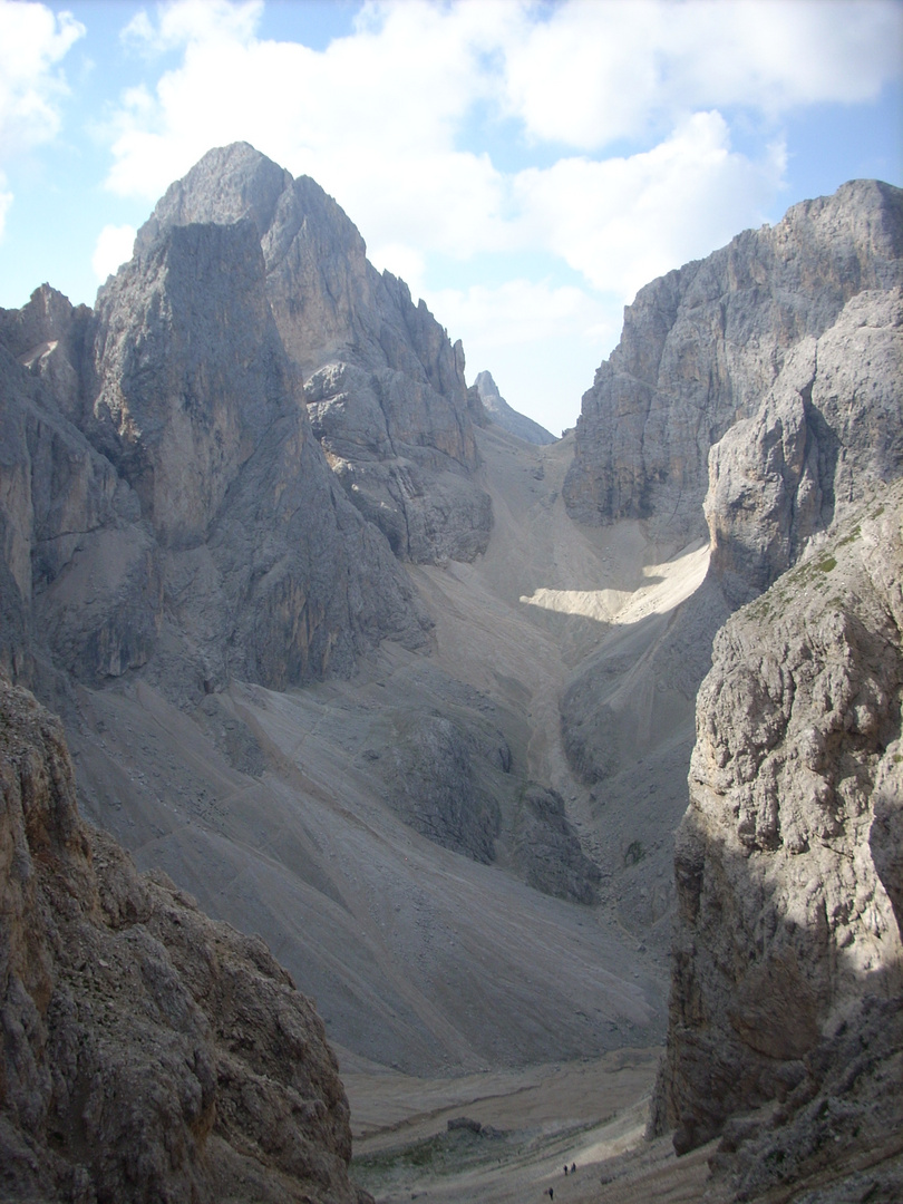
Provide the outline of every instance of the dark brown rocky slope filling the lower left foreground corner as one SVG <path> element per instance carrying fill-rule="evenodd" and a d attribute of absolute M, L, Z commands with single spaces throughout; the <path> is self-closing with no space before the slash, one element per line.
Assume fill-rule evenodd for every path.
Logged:
<path fill-rule="evenodd" d="M 82 822 L 59 722 L 0 683 L 0 1194 L 353 1204 L 323 1023 L 259 939 Z"/>

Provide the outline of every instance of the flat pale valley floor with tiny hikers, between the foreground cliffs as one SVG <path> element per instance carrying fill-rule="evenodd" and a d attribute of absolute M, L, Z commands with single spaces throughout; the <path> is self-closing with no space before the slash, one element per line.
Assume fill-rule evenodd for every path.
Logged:
<path fill-rule="evenodd" d="M 445 1080 L 343 1068 L 353 1175 L 378 1204 L 541 1204 L 549 1190 L 561 1204 L 716 1204 L 709 1146 L 678 1159 L 669 1138 L 643 1138 L 660 1052 Z M 461 1117 L 474 1125 L 448 1128 Z"/>

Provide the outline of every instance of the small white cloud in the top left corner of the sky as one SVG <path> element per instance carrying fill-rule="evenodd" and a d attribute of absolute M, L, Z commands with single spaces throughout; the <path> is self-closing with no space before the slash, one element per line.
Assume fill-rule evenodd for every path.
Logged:
<path fill-rule="evenodd" d="M 0 0 L 0 157 L 52 138 L 67 94 L 57 64 L 84 34 L 69 12 Z"/>

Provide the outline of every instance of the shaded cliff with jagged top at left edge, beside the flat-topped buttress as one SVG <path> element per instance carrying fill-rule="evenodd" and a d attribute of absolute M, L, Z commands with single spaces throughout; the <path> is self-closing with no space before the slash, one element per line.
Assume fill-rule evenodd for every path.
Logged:
<path fill-rule="evenodd" d="M 46 323 L 35 331 L 28 311 L 37 308 Z M 119 675 L 147 662 L 159 633 L 153 535 L 128 483 L 63 413 L 64 406 L 75 413 L 79 395 L 79 360 L 66 348 L 69 302 L 45 285 L 25 311 L 5 317 L 2 335 L 22 362 L 0 347 L 2 667 L 33 681 L 43 656 L 83 679 Z M 60 337 L 20 350 L 47 334 Z"/>

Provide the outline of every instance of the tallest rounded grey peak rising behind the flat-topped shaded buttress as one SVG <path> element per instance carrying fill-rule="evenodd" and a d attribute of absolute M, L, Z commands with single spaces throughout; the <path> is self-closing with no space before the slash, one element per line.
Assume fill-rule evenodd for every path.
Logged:
<path fill-rule="evenodd" d="M 247 143 L 211 150 L 140 231 L 247 218 L 260 240 L 266 297 L 314 432 L 350 500 L 414 561 L 472 560 L 489 539 L 464 352 L 407 285 L 379 273 L 336 202 Z"/>

